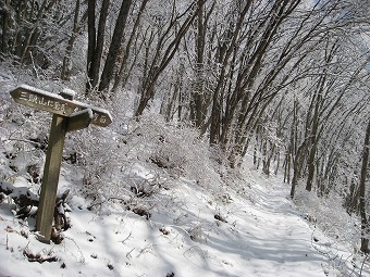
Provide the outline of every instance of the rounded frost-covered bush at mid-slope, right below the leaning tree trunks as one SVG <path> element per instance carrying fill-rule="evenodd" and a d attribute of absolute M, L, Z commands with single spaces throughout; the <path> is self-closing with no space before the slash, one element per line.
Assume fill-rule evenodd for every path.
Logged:
<path fill-rule="evenodd" d="M 138 159 L 172 177 L 193 176 L 201 182 L 214 174 L 210 149 L 194 128 L 151 115 L 134 124 L 132 135 L 132 142 L 138 146 Z"/>

